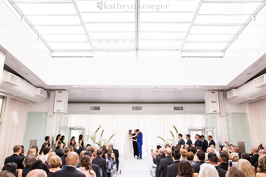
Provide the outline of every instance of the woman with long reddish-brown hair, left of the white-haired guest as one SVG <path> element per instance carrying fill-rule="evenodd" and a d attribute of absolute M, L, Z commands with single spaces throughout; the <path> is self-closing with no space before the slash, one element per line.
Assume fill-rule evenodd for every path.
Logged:
<path fill-rule="evenodd" d="M 198 177 L 198 173 L 193 173 L 194 170 L 187 160 L 181 160 L 178 166 L 179 177 Z"/>

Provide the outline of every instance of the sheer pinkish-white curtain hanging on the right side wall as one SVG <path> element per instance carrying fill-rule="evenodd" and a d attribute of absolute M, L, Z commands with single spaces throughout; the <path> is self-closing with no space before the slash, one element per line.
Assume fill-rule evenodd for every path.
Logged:
<path fill-rule="evenodd" d="M 252 135 L 253 146 L 262 144 L 266 147 L 266 99 L 248 103 L 248 119 Z"/>

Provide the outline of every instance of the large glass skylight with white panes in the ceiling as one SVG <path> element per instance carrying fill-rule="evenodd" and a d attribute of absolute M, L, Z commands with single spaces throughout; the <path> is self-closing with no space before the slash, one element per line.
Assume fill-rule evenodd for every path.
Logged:
<path fill-rule="evenodd" d="M 8 1 L 54 57 L 223 57 L 265 4 L 265 0 Z"/>

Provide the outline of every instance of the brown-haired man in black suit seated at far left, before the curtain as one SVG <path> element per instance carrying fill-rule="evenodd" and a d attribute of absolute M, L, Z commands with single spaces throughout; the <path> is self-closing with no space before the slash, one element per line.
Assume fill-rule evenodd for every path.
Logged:
<path fill-rule="evenodd" d="M 10 155 L 5 159 L 4 165 L 6 165 L 7 163 L 14 162 L 18 165 L 17 169 L 23 169 L 24 166 L 22 165 L 22 162 L 24 158 L 19 156 L 19 154 L 21 153 L 21 145 L 15 145 L 13 147 L 13 152 L 14 152 L 13 155 Z"/>

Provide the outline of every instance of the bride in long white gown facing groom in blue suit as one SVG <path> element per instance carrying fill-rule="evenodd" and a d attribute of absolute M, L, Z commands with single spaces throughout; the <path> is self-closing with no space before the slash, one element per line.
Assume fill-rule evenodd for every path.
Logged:
<path fill-rule="evenodd" d="M 137 141 L 137 140 L 133 140 L 131 135 L 132 130 L 128 130 L 126 137 L 125 137 L 125 159 L 127 160 L 134 160 L 134 149 L 133 149 L 133 143 L 132 141 Z"/>

